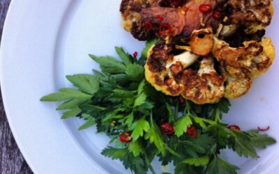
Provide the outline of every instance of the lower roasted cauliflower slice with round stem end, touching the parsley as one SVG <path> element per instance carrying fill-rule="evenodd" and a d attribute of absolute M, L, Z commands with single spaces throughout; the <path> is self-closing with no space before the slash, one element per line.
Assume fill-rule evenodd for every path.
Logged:
<path fill-rule="evenodd" d="M 172 38 L 167 38 L 153 45 L 149 49 L 145 76 L 156 90 L 166 95 L 182 95 L 196 104 L 245 95 L 252 79 L 269 70 L 275 59 L 271 38 L 246 41 L 243 47 L 235 48 L 215 38 L 209 28 L 193 31 L 186 44 L 174 45 Z M 174 55 L 177 51 L 183 52 Z M 213 56 L 222 74 L 214 69 Z M 199 62 L 199 70 L 190 67 L 195 62 Z"/>

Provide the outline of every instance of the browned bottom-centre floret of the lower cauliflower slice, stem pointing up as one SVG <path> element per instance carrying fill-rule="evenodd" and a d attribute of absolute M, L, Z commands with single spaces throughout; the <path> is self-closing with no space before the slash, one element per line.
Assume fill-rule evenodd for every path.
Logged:
<path fill-rule="evenodd" d="M 182 81 L 184 85 L 183 97 L 196 104 L 219 102 L 225 93 L 226 77 L 214 70 L 212 58 L 204 58 L 198 71 L 185 70 Z"/>

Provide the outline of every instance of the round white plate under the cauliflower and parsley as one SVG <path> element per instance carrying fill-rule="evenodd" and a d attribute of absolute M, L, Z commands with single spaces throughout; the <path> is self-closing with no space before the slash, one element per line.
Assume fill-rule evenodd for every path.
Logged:
<path fill-rule="evenodd" d="M 128 52 L 144 47 L 121 27 L 121 0 L 12 1 L 1 42 L 1 90 L 6 113 L 17 144 L 35 173 L 130 173 L 121 162 L 100 151 L 107 145 L 95 129 L 78 132 L 82 120 L 60 120 L 57 104 L 39 102 L 40 97 L 70 86 L 66 74 L 97 68 L 87 56 L 116 56 L 114 46 Z M 279 2 L 274 1 L 279 10 Z M 267 35 L 279 50 L 279 15 Z M 225 121 L 242 129 L 271 126 L 269 134 L 279 140 L 278 60 L 259 79 L 250 93 L 232 101 Z M 276 173 L 279 143 L 259 152 L 261 159 L 223 157 L 241 166 L 239 173 Z M 160 166 L 157 166 L 160 170 Z"/>

